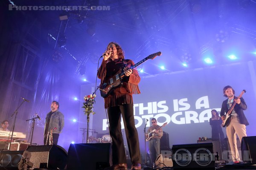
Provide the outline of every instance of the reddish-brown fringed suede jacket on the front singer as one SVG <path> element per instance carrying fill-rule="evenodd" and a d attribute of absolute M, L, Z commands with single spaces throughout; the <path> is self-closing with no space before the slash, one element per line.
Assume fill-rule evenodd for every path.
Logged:
<path fill-rule="evenodd" d="M 117 59 L 117 60 L 102 60 L 102 64 L 99 67 L 97 76 L 101 79 L 101 84 L 107 82 L 113 77 L 120 69 L 129 68 L 134 65 L 134 62 L 130 59 Z M 105 108 L 113 107 L 122 104 L 133 104 L 132 94 L 140 94 L 139 84 L 140 76 L 137 69 L 133 69 L 133 72 L 128 77 L 122 78 L 122 85 L 116 87 L 111 93 L 104 98 Z"/>

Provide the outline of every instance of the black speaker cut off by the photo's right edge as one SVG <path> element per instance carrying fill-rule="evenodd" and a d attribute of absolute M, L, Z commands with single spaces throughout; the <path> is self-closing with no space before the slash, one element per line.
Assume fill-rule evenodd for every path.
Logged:
<path fill-rule="evenodd" d="M 246 163 L 256 164 L 256 136 L 245 136 L 241 141 L 242 159 Z"/>

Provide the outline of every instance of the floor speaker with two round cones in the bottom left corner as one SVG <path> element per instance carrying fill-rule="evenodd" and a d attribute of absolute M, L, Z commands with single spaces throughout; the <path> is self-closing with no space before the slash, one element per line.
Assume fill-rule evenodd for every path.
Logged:
<path fill-rule="evenodd" d="M 0 170 L 18 170 L 18 164 L 22 158 L 23 150 L 10 151 L 1 150 L 0 152 Z"/>

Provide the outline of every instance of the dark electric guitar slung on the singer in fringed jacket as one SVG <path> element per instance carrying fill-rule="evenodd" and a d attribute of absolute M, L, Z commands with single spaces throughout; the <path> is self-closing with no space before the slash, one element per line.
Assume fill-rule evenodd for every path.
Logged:
<path fill-rule="evenodd" d="M 159 51 L 157 53 L 151 54 L 148 57 L 142 59 L 141 61 L 137 62 L 136 64 L 132 65 L 127 70 L 133 70 L 137 66 L 141 65 L 143 62 L 147 61 L 148 59 L 154 59 L 157 56 L 160 56 L 162 53 Z M 105 98 L 111 91 L 122 84 L 122 78 L 125 77 L 125 68 L 120 69 L 113 77 L 105 81 L 103 84 L 99 85 L 100 95 Z"/>

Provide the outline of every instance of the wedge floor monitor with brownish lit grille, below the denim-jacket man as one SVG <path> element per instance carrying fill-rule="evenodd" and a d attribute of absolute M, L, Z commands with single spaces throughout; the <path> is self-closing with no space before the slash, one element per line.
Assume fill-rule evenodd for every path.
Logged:
<path fill-rule="evenodd" d="M 26 150 L 31 153 L 32 168 L 63 170 L 67 166 L 67 151 L 59 145 L 29 146 Z"/>

